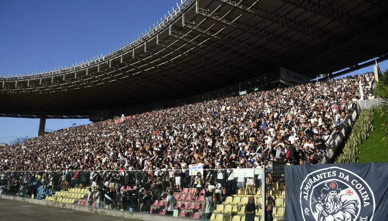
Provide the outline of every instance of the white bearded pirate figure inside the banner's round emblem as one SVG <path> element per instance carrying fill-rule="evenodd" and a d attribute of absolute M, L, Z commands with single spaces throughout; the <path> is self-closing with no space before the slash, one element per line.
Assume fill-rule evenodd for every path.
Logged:
<path fill-rule="evenodd" d="M 357 216 L 359 200 L 350 193 L 341 191 L 336 181 L 327 181 L 320 197 L 316 199 L 312 196 L 312 203 L 315 204 L 315 212 L 313 212 L 315 220 L 353 221 Z"/>

